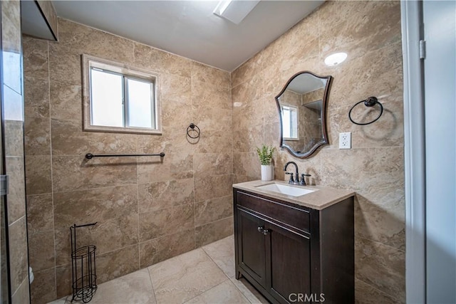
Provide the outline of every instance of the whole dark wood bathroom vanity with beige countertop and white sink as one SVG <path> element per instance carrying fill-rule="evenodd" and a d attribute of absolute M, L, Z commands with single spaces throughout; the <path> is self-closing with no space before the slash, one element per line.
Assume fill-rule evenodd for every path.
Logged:
<path fill-rule="evenodd" d="M 271 303 L 354 303 L 353 192 L 254 181 L 233 194 L 236 278 Z"/>

